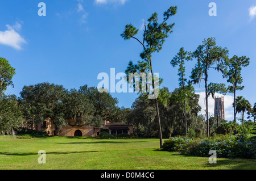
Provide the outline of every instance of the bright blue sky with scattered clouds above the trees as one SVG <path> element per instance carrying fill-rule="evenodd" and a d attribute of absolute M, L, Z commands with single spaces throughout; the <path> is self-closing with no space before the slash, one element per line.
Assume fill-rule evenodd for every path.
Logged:
<path fill-rule="evenodd" d="M 38 15 L 38 3 L 46 3 L 46 16 Z M 217 5 L 217 16 L 209 16 L 210 2 Z M 164 79 L 170 91 L 179 86 L 177 68 L 170 61 L 184 47 L 195 50 L 204 38 L 216 37 L 217 45 L 227 47 L 230 57 L 250 57 L 250 66 L 242 70 L 245 89 L 238 91 L 256 102 L 256 5 L 247 1 L 152 1 L 152 0 L 10 0 L 0 6 L 0 57 L 16 69 L 14 88 L 8 94 L 19 96 L 24 85 L 40 82 L 61 84 L 67 89 L 82 85 L 97 86 L 99 73 L 124 72 L 130 60 L 137 62 L 142 47 L 133 40 L 125 41 L 120 34 L 126 24 L 141 28 L 143 20 L 158 12 L 162 18 L 170 6 L 177 14 L 170 19 L 174 32 L 163 50 L 154 54 L 153 69 Z M 138 37 L 141 38 L 142 32 Z M 187 77 L 195 61 L 186 65 Z M 226 83 L 222 75 L 210 71 L 209 82 Z M 204 106 L 204 85 L 196 85 Z M 119 106 L 130 107 L 137 94 L 114 93 Z M 225 96 L 225 111 L 232 120 L 232 94 Z M 209 108 L 213 112 L 213 101 Z"/>

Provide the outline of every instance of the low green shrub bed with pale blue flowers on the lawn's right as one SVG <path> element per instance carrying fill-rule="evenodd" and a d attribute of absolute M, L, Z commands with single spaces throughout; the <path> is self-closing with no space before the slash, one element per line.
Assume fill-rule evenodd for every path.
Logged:
<path fill-rule="evenodd" d="M 253 158 L 250 135 L 218 136 L 215 138 L 188 139 L 171 138 L 163 144 L 163 150 L 181 151 L 181 154 L 209 157 L 210 150 L 216 150 L 218 158 Z"/>

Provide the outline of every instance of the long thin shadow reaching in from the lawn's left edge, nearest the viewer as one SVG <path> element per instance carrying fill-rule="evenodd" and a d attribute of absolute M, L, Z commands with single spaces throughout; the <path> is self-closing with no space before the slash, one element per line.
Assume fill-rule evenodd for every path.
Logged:
<path fill-rule="evenodd" d="M 76 154 L 76 153 L 97 153 L 102 151 L 66 151 L 66 152 L 46 152 L 46 154 L 65 155 L 65 154 Z M 39 155 L 38 153 L 8 153 L 0 152 L 0 155 L 11 155 L 11 156 L 28 156 L 28 155 Z"/>

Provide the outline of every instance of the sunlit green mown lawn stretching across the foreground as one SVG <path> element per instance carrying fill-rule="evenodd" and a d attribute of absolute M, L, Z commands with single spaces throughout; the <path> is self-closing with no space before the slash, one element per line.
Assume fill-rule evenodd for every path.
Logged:
<path fill-rule="evenodd" d="M 16 138 L 0 136 L 0 169 L 256 169 L 246 159 L 187 157 L 159 150 L 158 139 Z M 46 164 L 38 151 L 46 151 Z"/>

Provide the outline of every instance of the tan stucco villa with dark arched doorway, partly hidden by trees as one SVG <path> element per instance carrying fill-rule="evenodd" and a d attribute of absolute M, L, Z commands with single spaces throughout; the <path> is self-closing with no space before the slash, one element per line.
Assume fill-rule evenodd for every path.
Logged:
<path fill-rule="evenodd" d="M 110 121 L 106 120 L 106 118 L 102 118 L 102 127 L 82 125 L 82 121 L 83 119 L 81 117 L 77 117 L 76 120 L 68 120 L 68 124 L 60 129 L 59 136 L 97 137 L 100 136 L 102 129 L 104 129 L 105 132 L 108 131 L 113 135 L 133 133 L 133 125 L 126 123 L 110 123 Z M 46 131 L 49 136 L 54 135 L 55 133 L 55 125 L 49 119 L 43 123 L 31 125 L 30 129 L 36 131 Z"/>

